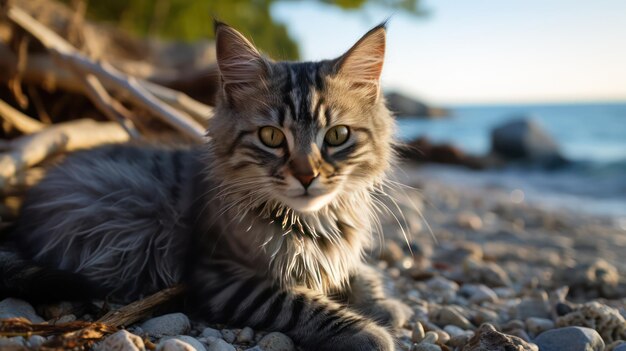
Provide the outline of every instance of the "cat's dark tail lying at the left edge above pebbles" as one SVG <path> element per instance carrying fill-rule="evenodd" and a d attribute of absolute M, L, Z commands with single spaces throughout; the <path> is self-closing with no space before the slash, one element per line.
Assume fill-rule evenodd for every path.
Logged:
<path fill-rule="evenodd" d="M 0 246 L 0 300 L 82 301 L 100 295 L 99 289 L 79 274 L 42 267 L 20 257 L 13 247 Z"/>

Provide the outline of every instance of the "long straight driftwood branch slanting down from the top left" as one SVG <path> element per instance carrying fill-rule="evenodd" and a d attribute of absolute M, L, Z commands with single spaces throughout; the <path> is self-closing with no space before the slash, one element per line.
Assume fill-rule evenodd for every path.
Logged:
<path fill-rule="evenodd" d="M 111 88 L 122 94 L 127 93 L 133 103 L 144 107 L 165 123 L 168 123 L 192 139 L 199 142 L 204 140 L 204 127 L 202 125 L 188 114 L 161 103 L 136 78 L 126 76 L 106 62 L 101 64 L 93 62 L 80 54 L 59 35 L 37 22 L 19 8 L 10 6 L 8 17 L 37 38 L 55 57 L 58 57 L 63 62 L 75 65 L 84 72 L 92 73 L 99 79 L 107 81 Z"/>

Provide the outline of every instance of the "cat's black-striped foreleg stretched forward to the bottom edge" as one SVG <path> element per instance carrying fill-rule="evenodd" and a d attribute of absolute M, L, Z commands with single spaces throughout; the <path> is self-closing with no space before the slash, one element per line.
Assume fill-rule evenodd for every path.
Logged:
<path fill-rule="evenodd" d="M 304 350 L 392 351 L 384 328 L 326 296 L 304 288 L 281 290 L 259 278 L 219 280 L 205 275 L 207 285 L 192 287 L 190 307 L 209 322 L 279 331 Z M 226 280 L 225 280 L 226 279 Z M 220 283 L 217 283 L 220 282 Z"/>

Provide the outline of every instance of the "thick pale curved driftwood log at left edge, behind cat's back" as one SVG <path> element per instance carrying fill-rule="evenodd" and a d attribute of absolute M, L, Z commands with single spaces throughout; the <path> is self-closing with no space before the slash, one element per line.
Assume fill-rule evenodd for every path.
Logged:
<path fill-rule="evenodd" d="M 19 172 L 51 155 L 128 140 L 128 133 L 117 123 L 85 119 L 59 123 L 20 137 L 11 141 L 9 152 L 0 154 L 0 188 Z"/>

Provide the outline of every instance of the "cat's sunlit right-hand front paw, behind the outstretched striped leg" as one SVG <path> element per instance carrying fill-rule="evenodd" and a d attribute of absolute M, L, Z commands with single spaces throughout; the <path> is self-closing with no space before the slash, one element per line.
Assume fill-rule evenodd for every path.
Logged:
<path fill-rule="evenodd" d="M 345 298 L 350 308 L 394 328 L 403 326 L 413 315 L 409 306 L 387 296 L 380 273 L 367 264 L 350 278 Z"/>

